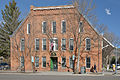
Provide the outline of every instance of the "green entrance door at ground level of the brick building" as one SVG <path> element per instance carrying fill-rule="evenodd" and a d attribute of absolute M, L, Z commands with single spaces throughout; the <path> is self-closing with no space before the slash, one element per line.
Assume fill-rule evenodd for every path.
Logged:
<path fill-rule="evenodd" d="M 57 71 L 58 70 L 57 57 L 51 57 L 50 68 L 51 68 L 51 71 Z"/>

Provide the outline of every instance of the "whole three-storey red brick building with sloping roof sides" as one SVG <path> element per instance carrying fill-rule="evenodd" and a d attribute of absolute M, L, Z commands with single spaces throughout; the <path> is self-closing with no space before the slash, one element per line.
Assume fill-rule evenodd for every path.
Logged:
<path fill-rule="evenodd" d="M 30 13 L 10 38 L 11 70 L 23 66 L 25 71 L 33 68 L 37 71 L 73 71 L 79 51 L 75 34 L 80 32 L 79 70 L 85 66 L 90 72 L 96 64 L 97 71 L 101 72 L 101 36 L 84 16 L 79 16 L 80 19 L 78 11 L 71 5 L 31 6 Z M 73 55 L 76 56 L 75 61 Z"/>

